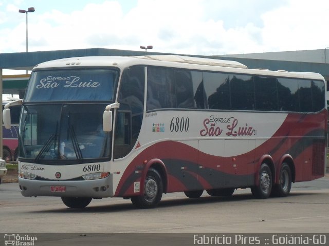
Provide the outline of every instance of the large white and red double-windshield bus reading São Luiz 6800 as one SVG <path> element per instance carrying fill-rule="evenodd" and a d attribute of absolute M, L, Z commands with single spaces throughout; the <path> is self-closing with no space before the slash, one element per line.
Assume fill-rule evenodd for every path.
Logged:
<path fill-rule="evenodd" d="M 248 69 L 175 55 L 79 57 L 32 70 L 20 119 L 23 196 L 69 208 L 163 193 L 287 196 L 324 176 L 327 110 L 320 74 Z"/>

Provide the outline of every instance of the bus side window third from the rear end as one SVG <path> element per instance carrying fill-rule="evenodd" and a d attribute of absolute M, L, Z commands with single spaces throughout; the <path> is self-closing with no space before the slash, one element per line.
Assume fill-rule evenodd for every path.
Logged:
<path fill-rule="evenodd" d="M 298 80 L 278 78 L 279 111 L 299 111 Z"/>

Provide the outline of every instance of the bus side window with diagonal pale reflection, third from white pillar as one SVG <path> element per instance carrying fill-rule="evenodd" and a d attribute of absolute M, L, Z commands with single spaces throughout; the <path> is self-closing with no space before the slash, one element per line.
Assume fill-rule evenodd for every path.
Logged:
<path fill-rule="evenodd" d="M 205 92 L 209 109 L 230 109 L 229 75 L 204 73 Z"/>

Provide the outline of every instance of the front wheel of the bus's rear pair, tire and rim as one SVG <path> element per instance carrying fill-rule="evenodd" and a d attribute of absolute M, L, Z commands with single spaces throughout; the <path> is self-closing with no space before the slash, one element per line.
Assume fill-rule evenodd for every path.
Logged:
<path fill-rule="evenodd" d="M 258 185 L 251 187 L 252 195 L 258 199 L 266 199 L 270 196 L 273 180 L 269 166 L 263 163 L 259 170 Z"/>

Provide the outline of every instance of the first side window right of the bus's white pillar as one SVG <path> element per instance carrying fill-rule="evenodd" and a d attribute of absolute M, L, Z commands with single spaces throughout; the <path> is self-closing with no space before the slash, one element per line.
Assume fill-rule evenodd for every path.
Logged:
<path fill-rule="evenodd" d="M 170 68 L 148 67 L 147 110 L 176 108 L 174 72 Z"/>

